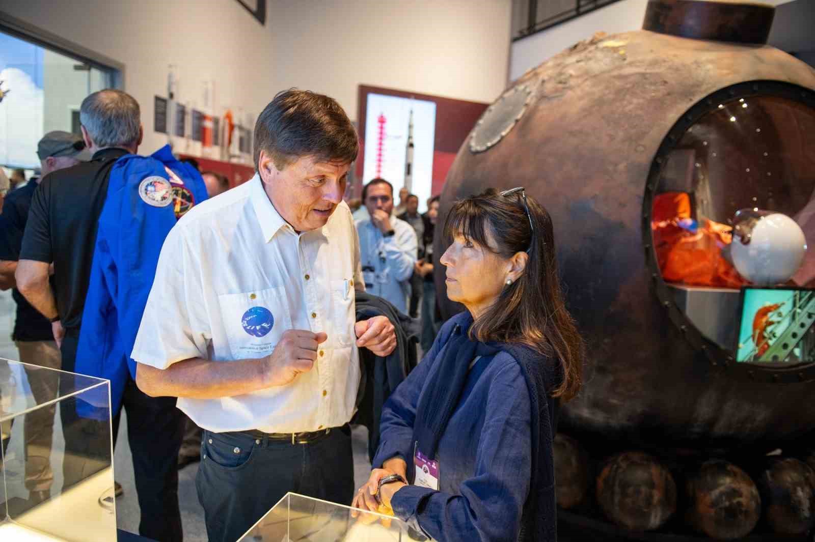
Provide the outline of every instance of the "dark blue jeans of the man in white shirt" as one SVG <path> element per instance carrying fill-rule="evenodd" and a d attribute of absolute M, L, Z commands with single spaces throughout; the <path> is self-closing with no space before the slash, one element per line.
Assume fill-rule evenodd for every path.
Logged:
<path fill-rule="evenodd" d="M 309 444 L 205 430 L 196 489 L 209 542 L 235 542 L 287 492 L 350 505 L 350 426 Z"/>

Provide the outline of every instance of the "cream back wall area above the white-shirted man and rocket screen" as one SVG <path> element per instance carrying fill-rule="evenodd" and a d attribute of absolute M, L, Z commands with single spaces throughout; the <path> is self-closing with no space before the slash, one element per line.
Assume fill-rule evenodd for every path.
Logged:
<path fill-rule="evenodd" d="M 510 0 L 276 0 L 275 76 L 337 98 L 357 85 L 492 102 L 509 63 Z"/>

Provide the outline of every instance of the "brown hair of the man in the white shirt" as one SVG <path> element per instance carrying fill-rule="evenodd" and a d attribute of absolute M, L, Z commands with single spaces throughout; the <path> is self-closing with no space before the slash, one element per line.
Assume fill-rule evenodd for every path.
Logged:
<path fill-rule="evenodd" d="M 337 100 L 311 90 L 279 92 L 258 116 L 254 130 L 254 164 L 267 151 L 282 170 L 301 156 L 350 164 L 359 153 L 354 125 Z"/>

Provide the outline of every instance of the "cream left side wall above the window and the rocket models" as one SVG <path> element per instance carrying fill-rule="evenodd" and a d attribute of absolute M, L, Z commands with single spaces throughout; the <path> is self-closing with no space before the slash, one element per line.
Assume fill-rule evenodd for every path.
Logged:
<path fill-rule="evenodd" d="M 254 115 L 279 88 L 269 24 L 235 0 L 2 0 L 0 9 L 126 64 L 125 90 L 142 107 L 144 153 L 166 142 L 152 132 L 153 96 L 166 95 L 170 63 L 178 65 L 181 98 L 199 104 L 209 78 L 218 104 Z"/>

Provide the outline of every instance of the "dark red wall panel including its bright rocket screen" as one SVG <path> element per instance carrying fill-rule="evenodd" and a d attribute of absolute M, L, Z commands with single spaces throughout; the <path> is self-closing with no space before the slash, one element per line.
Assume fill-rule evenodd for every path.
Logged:
<path fill-rule="evenodd" d="M 358 104 L 355 195 L 382 177 L 394 191 L 407 186 L 417 195 L 420 212 L 441 193 L 459 147 L 489 105 L 369 85 L 359 85 Z"/>

